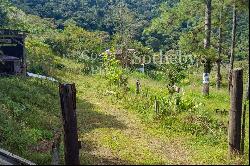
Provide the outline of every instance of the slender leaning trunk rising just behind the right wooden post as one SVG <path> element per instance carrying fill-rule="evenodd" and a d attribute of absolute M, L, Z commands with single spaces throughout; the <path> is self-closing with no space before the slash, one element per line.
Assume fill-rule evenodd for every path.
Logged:
<path fill-rule="evenodd" d="M 230 92 L 230 85 L 232 82 L 232 70 L 234 68 L 234 53 L 236 45 L 236 27 L 237 27 L 237 11 L 236 11 L 236 1 L 234 0 L 233 5 L 233 28 L 232 28 L 232 45 L 231 45 L 231 55 L 230 55 L 230 68 L 229 68 L 229 78 L 228 78 L 228 89 Z"/>

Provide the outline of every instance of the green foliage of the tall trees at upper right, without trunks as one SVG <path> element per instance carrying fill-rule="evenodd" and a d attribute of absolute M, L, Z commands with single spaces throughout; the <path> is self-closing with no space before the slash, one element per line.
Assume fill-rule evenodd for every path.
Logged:
<path fill-rule="evenodd" d="M 240 3 L 241 2 L 241 3 Z M 155 18 L 151 25 L 144 30 L 145 44 L 154 50 L 181 49 L 184 52 L 204 54 L 204 1 L 181 0 L 175 5 L 161 6 L 161 14 Z M 238 1 L 238 24 L 237 24 L 237 56 L 243 58 L 248 56 L 248 1 Z M 212 39 L 210 54 L 215 57 L 218 50 L 218 37 L 221 6 L 222 11 L 222 33 L 223 54 L 228 56 L 231 43 L 232 29 L 232 2 L 221 0 L 212 1 Z M 192 6 L 192 7 L 190 7 Z"/>

